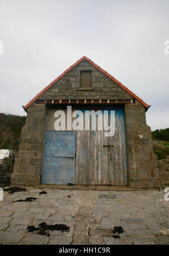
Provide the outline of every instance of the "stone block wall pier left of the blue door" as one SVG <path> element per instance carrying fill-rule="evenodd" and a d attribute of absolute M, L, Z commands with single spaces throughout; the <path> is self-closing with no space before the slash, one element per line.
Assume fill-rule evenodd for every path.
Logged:
<path fill-rule="evenodd" d="M 21 131 L 19 152 L 15 158 L 11 183 L 38 185 L 41 183 L 43 147 L 46 127 L 45 105 L 28 108 L 25 126 Z"/>

